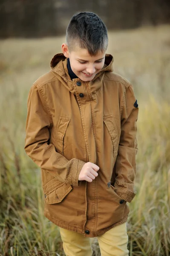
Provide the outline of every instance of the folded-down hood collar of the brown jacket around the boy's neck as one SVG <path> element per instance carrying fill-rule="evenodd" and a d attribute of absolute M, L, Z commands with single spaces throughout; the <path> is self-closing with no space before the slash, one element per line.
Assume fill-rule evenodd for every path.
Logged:
<path fill-rule="evenodd" d="M 102 80 L 104 77 L 104 72 L 112 72 L 112 64 L 113 64 L 113 56 L 110 54 L 106 54 L 104 67 L 101 69 L 99 73 L 97 73 L 92 81 L 89 82 L 91 93 L 95 93 L 101 87 Z M 64 80 L 64 85 L 69 89 L 70 92 L 75 93 L 73 81 L 81 81 L 79 78 L 71 79 L 69 76 L 68 68 L 67 68 L 67 58 L 63 55 L 63 53 L 56 54 L 50 63 L 51 69 L 55 76 L 60 76 Z M 59 80 L 62 81 L 62 79 Z M 98 81 L 98 82 L 97 82 Z M 83 81 L 82 81 L 83 82 Z"/>

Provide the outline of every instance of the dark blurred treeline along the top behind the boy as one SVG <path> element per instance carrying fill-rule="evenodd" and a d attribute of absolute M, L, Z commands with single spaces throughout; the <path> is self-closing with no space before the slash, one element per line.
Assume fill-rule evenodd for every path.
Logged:
<path fill-rule="evenodd" d="M 0 0 L 0 38 L 61 35 L 78 11 L 97 13 L 108 29 L 170 23 L 170 0 Z"/>

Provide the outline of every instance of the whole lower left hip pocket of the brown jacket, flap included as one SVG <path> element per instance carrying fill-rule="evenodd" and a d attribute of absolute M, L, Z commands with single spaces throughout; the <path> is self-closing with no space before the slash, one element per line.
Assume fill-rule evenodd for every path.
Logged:
<path fill-rule="evenodd" d="M 50 183 L 53 183 L 53 185 L 51 185 Z M 49 183 L 43 186 L 46 204 L 60 203 L 71 190 L 71 185 L 63 183 L 56 179 L 51 180 Z"/>

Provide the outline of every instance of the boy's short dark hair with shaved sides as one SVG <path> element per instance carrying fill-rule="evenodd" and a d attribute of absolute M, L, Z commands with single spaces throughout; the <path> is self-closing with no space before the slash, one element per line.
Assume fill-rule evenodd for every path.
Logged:
<path fill-rule="evenodd" d="M 106 51 L 108 46 L 107 27 L 93 12 L 73 15 L 66 29 L 66 44 L 71 52 L 75 46 L 86 49 L 95 56 L 98 51 Z"/>

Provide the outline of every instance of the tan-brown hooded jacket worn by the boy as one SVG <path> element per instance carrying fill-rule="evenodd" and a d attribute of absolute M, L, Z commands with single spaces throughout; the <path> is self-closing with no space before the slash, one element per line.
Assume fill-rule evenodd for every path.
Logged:
<path fill-rule="evenodd" d="M 62 54 L 32 85 L 25 150 L 41 168 L 44 215 L 87 237 L 127 221 L 135 196 L 136 120 L 132 85 L 112 72 L 113 57 L 90 82 L 70 79 Z M 86 162 L 98 177 L 78 181 Z"/>

